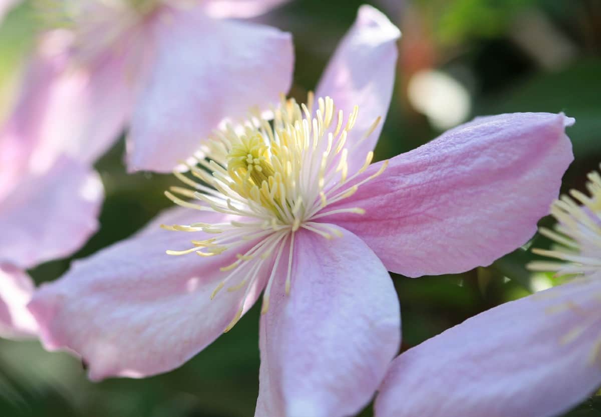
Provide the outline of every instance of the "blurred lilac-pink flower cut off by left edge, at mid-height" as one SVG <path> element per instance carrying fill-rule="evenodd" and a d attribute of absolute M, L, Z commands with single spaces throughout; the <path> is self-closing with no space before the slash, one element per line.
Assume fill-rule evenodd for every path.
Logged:
<path fill-rule="evenodd" d="M 0 151 L 6 151 L 2 144 Z M 31 329 L 22 326 L 32 321 L 25 317 L 25 294 L 33 290 L 23 271 L 78 250 L 96 232 L 102 205 L 102 182 L 85 164 L 61 157 L 48 169 L 35 168 L 25 170 L 8 191 L 0 185 L 0 310 L 7 308 L 0 313 L 0 335 L 5 337 L 10 322 L 17 333 Z M 4 179 L 4 169 L 1 174 Z"/>

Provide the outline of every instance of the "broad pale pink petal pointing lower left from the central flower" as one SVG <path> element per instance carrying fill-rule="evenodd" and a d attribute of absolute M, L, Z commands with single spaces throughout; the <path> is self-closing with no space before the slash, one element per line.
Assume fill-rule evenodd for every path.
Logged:
<path fill-rule="evenodd" d="M 220 220 L 222 215 L 178 208 L 158 221 Z M 232 263 L 235 252 L 213 257 L 165 253 L 204 236 L 162 230 L 155 222 L 74 262 L 63 278 L 40 287 L 29 304 L 44 346 L 81 355 L 94 380 L 142 377 L 182 365 L 221 335 L 243 302 L 243 290 L 224 289 L 210 299 L 227 275 L 219 268 Z M 260 290 L 251 291 L 245 310 Z"/>

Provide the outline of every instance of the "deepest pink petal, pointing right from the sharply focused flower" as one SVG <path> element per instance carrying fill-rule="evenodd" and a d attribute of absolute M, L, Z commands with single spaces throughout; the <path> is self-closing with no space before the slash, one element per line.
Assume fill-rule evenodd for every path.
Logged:
<path fill-rule="evenodd" d="M 489 265 L 525 244 L 548 214 L 572 161 L 563 114 L 479 118 L 398 155 L 325 217 L 364 239 L 389 271 L 409 277 Z M 364 176 L 376 172 L 373 164 Z"/>

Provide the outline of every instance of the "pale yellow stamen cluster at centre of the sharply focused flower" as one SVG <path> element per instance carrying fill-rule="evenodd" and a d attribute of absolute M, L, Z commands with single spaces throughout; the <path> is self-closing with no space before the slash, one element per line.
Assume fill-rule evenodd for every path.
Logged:
<path fill-rule="evenodd" d="M 224 251 L 238 251 L 236 261 L 221 268 L 229 274 L 212 297 L 227 285 L 229 290 L 245 288 L 246 297 L 260 275 L 261 266 L 267 260 L 272 262 L 271 255 L 275 254 L 263 295 L 262 311 L 267 311 L 276 267 L 286 245 L 285 290 L 290 291 L 294 233 L 302 228 L 331 239 L 341 236 L 340 230 L 320 223 L 319 219 L 338 213 L 364 213 L 361 208 L 328 210 L 327 207 L 350 197 L 362 184 L 380 175 L 386 164 L 359 181 L 357 177 L 370 165 L 373 152 L 365 155 L 365 163 L 359 169 L 349 167 L 347 156 L 358 143 L 347 146 L 347 136 L 355 124 L 358 108 L 345 119 L 341 110 L 335 112 L 331 98 L 319 98 L 315 112 L 313 101 L 311 94 L 307 105 L 282 100 L 278 109 L 272 109 L 271 122 L 253 112 L 243 125 L 227 125 L 215 131 L 203 147 L 205 156 L 186 162 L 189 175 L 174 172 L 191 189 L 172 187 L 165 193 L 169 199 L 201 212 L 225 214 L 227 221 L 203 223 L 203 216 L 199 215 L 199 223 L 163 225 L 169 230 L 215 235 L 192 241 L 194 246 L 188 250 L 168 253 L 216 256 Z M 363 139 L 378 123 L 379 119 L 364 132 Z M 240 250 L 241 247 L 245 250 Z M 240 314 L 242 307 L 226 331 Z"/>

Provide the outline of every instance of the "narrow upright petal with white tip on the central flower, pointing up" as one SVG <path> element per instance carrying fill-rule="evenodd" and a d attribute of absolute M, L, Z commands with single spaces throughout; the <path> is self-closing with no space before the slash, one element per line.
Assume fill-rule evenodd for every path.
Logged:
<path fill-rule="evenodd" d="M 341 41 L 317 86 L 316 96 L 329 95 L 345 117 L 359 106 L 355 127 L 350 131 L 349 170 L 356 171 L 373 151 L 388 113 L 397 63 L 397 27 L 375 8 L 359 8 L 355 25 Z M 364 139 L 378 117 L 382 121 Z"/>

